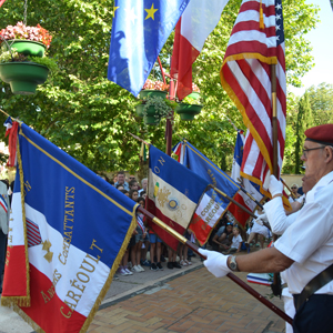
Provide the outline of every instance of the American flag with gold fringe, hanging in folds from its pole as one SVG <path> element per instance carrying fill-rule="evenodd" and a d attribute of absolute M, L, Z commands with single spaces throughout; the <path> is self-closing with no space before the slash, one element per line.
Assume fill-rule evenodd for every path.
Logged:
<path fill-rule="evenodd" d="M 281 0 L 243 0 L 220 75 L 223 88 L 241 111 L 249 129 L 241 174 L 260 184 L 265 194 L 270 174 L 273 173 L 271 64 L 276 64 L 279 174 L 284 152 L 284 53 Z"/>

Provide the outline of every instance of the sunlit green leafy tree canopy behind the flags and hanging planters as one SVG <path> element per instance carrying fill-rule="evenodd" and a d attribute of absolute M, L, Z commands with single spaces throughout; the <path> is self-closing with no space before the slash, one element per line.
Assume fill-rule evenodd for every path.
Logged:
<path fill-rule="evenodd" d="M 36 0 L 28 4 L 27 24 L 40 23 L 53 36 L 48 57 L 57 61 L 59 72 L 33 95 L 13 95 L 9 85 L 0 82 L 0 108 L 95 172 L 139 169 L 140 142 L 130 132 L 165 150 L 165 120 L 158 127 L 144 127 L 133 111 L 137 99 L 107 79 L 114 1 Z M 194 62 L 193 81 L 201 89 L 203 111 L 192 122 L 176 115 L 173 124 L 173 143 L 186 138 L 224 169 L 231 165 L 236 138 L 228 119 L 244 129 L 219 74 L 240 4 L 241 0 L 229 1 Z M 304 36 L 315 27 L 317 9 L 305 0 L 285 0 L 283 6 L 287 83 L 300 85 L 300 78 L 313 65 Z M 0 9 L 0 28 L 22 20 L 23 2 L 20 7 L 7 0 Z M 167 72 L 172 44 L 173 34 L 160 54 Z M 158 67 L 151 75 L 159 75 Z M 289 99 L 289 113 L 293 104 Z M 3 138 L 4 128 L 1 131 Z"/>

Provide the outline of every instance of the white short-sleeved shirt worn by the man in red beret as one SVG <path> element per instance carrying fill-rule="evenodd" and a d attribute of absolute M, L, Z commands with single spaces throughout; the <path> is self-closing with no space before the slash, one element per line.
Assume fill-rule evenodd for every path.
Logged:
<path fill-rule="evenodd" d="M 294 261 L 283 274 L 292 294 L 333 263 L 333 172 L 306 193 L 305 205 L 274 245 Z M 316 293 L 333 294 L 333 282 Z"/>

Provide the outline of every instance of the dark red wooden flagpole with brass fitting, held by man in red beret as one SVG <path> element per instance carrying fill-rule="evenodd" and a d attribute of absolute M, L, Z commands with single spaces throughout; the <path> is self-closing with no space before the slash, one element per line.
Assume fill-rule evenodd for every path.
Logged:
<path fill-rule="evenodd" d="M 158 219 L 157 216 L 154 216 L 152 213 L 150 213 L 149 211 L 147 211 L 142 206 L 138 206 L 138 210 L 144 214 L 147 218 L 149 218 L 153 223 L 158 224 L 160 228 L 162 228 L 164 231 L 167 231 L 168 233 L 170 233 L 172 236 L 174 236 L 178 241 L 180 241 L 182 244 L 189 246 L 192 251 L 194 251 L 195 253 L 198 253 L 201 258 L 206 259 L 204 255 L 202 255 L 199 252 L 199 248 L 193 244 L 192 242 L 190 242 L 189 240 L 186 240 L 184 236 L 182 236 L 180 233 L 178 233 L 176 231 L 174 231 L 173 229 L 171 229 L 169 225 L 167 225 L 164 222 L 162 222 L 160 219 Z M 242 287 L 243 290 L 245 290 L 248 293 L 250 293 L 252 296 L 254 296 L 258 301 L 260 301 L 262 304 L 264 304 L 265 306 L 268 306 L 271 311 L 273 311 L 275 314 L 278 314 L 280 317 L 282 317 L 284 321 L 286 321 L 287 323 L 290 323 L 292 325 L 293 320 L 285 313 L 283 312 L 281 309 L 279 309 L 278 306 L 275 306 L 273 303 L 271 303 L 269 300 L 266 300 L 263 295 L 261 295 L 258 291 L 255 291 L 253 287 L 251 287 L 249 284 L 246 284 L 244 281 L 242 281 L 240 278 L 238 278 L 236 275 L 229 273 L 226 274 L 226 276 L 229 279 L 231 279 L 233 282 L 235 282 L 240 287 Z"/>

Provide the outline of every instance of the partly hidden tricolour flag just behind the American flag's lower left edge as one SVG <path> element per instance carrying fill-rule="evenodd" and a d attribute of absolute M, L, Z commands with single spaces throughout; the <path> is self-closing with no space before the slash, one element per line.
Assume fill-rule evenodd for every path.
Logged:
<path fill-rule="evenodd" d="M 263 195 L 260 193 L 260 186 L 248 179 L 241 176 L 241 165 L 243 160 L 243 147 L 244 147 L 244 135 L 242 131 L 238 131 L 236 143 L 234 148 L 234 155 L 233 155 L 233 164 L 232 164 L 232 172 L 231 178 L 240 183 L 244 190 L 250 193 L 256 201 L 261 201 Z M 239 191 L 234 196 L 234 200 L 245 206 L 251 212 L 254 211 L 256 203 L 249 198 L 243 191 Z M 229 206 L 229 212 L 233 214 L 235 220 L 242 226 L 245 226 L 250 214 L 240 209 L 236 204 L 231 203 Z"/>

